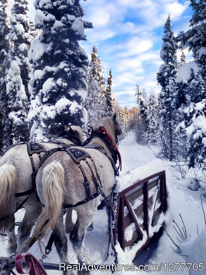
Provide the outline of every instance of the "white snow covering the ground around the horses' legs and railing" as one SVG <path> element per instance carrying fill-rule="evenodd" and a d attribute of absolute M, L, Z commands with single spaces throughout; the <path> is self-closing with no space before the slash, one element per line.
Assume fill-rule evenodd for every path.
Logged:
<path fill-rule="evenodd" d="M 152 153 L 152 151 L 145 147 L 140 146 L 134 141 L 134 133 L 129 132 L 128 136 L 124 138 L 119 144 L 119 151 L 122 156 L 122 171 L 120 172 L 120 176 L 124 176 L 128 170 L 133 170 L 136 167 L 146 165 L 152 160 L 155 160 L 156 157 Z M 189 247 L 191 246 L 191 243 L 194 243 L 194 239 L 197 237 L 197 223 L 199 228 L 199 233 L 202 229 L 205 228 L 205 222 L 204 222 L 204 216 L 203 211 L 201 207 L 200 202 L 200 193 L 203 192 L 203 190 L 199 191 L 192 191 L 188 188 L 190 185 L 190 178 L 191 174 L 188 173 L 188 177 L 183 180 L 177 180 L 175 177 L 171 174 L 169 171 L 169 168 L 167 167 L 170 163 L 162 161 L 162 164 L 165 165 L 166 170 L 166 181 L 167 181 L 167 192 L 168 192 L 168 199 L 167 199 L 167 205 L 168 209 L 165 212 L 165 227 L 168 231 L 168 233 L 171 235 L 171 237 L 174 239 L 176 243 L 178 243 L 176 237 L 178 237 L 177 233 L 175 232 L 173 228 L 173 219 L 177 222 L 178 225 L 182 227 L 181 219 L 179 216 L 179 213 L 181 213 L 181 216 L 183 218 L 183 221 L 186 226 L 187 235 L 191 235 L 191 240 L 188 242 L 189 245 L 187 246 L 187 243 L 184 245 L 184 249 L 187 251 L 187 247 L 189 250 Z M 170 167 L 171 170 L 173 168 Z M 148 171 L 149 173 L 150 171 Z M 204 185 L 201 183 L 202 186 Z M 205 186 L 204 186 L 205 187 Z M 203 201 L 203 207 L 206 212 L 206 198 L 202 196 Z M 74 211 L 73 211 L 74 212 Z M 16 215 L 16 221 L 21 221 L 23 216 L 24 210 L 21 209 Z M 75 221 L 76 215 L 75 212 L 73 214 L 73 219 Z M 206 230 L 204 230 L 206 232 Z M 199 245 L 199 249 L 195 250 L 196 257 L 195 260 L 199 260 L 199 262 L 204 263 L 205 270 L 199 273 L 194 274 L 206 274 L 206 256 L 203 254 L 203 247 L 206 247 L 206 236 L 203 235 L 204 232 L 201 234 L 201 243 L 198 241 L 196 242 L 197 245 Z M 68 237 L 68 259 L 70 263 L 77 263 L 77 259 L 74 255 L 74 252 L 72 250 L 70 241 L 69 241 L 69 234 L 67 234 Z M 179 243 L 180 244 L 180 243 Z M 85 248 L 88 252 L 88 256 L 91 259 L 91 262 L 94 262 L 95 264 L 111 264 L 111 262 L 114 260 L 113 257 L 109 257 L 107 261 L 105 262 L 105 258 L 107 255 L 107 245 L 108 245 L 108 234 L 107 234 L 107 216 L 105 209 L 97 211 L 94 219 L 94 230 L 88 231 L 86 233 L 85 237 Z M 1 256 L 9 256 L 6 253 L 6 246 L 7 241 L 1 241 L 0 247 L 1 247 Z M 172 244 L 169 237 L 166 236 L 166 233 L 163 232 L 163 235 L 159 239 L 158 243 L 153 243 L 151 250 L 148 252 L 143 252 L 140 254 L 140 256 L 134 261 L 136 265 L 139 264 L 160 264 L 161 262 L 167 263 L 167 266 L 169 263 L 184 263 L 185 259 L 181 257 L 178 254 L 175 254 L 170 246 L 174 245 Z M 157 249 L 154 249 L 154 247 Z M 118 261 L 119 264 L 132 264 L 130 253 L 128 250 L 126 252 L 123 252 L 120 249 L 120 246 L 116 245 L 116 249 L 118 251 Z M 192 249 L 190 250 L 190 252 Z M 29 252 L 33 253 L 37 258 L 41 258 L 41 253 L 39 252 L 37 248 L 37 244 L 33 245 L 33 247 L 29 250 Z M 197 255 L 199 253 L 199 255 Z M 48 258 L 44 260 L 45 262 L 53 262 L 53 263 L 59 263 L 59 258 L 56 253 L 55 247 L 53 247 L 53 250 L 49 254 Z M 181 267 L 182 268 L 182 267 Z M 169 274 L 175 273 L 175 275 L 179 274 L 189 274 L 187 271 L 187 268 L 185 267 L 184 271 L 181 271 L 181 268 L 177 271 L 170 271 Z M 168 268 L 167 268 L 168 270 Z M 58 271 L 52 271 L 48 270 L 47 273 L 49 275 L 53 274 L 60 274 Z M 94 273 L 94 272 L 93 272 Z M 95 272 L 95 274 L 108 274 L 110 272 L 102 272 L 98 271 Z M 168 272 L 165 272 L 162 268 L 159 272 L 145 272 L 145 271 L 124 271 L 124 272 L 115 272 L 115 274 L 167 274 Z M 192 273 L 191 273 L 192 274 Z"/>

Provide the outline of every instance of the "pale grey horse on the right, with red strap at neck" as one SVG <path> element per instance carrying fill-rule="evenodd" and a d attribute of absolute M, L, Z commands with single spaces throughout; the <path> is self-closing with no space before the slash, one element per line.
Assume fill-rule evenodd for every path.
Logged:
<path fill-rule="evenodd" d="M 94 132 L 98 132 L 100 124 L 104 127 L 101 129 L 106 129 L 106 132 L 111 137 L 112 144 L 117 146 L 117 135 L 121 134 L 121 129 L 119 123 L 116 121 L 116 114 L 113 117 L 101 118 L 94 126 Z M 102 137 L 103 139 L 104 137 L 106 138 L 104 134 L 102 134 Z M 95 148 L 89 148 L 92 147 L 92 144 L 93 146 L 95 144 L 103 148 L 107 155 L 112 158 L 111 148 L 107 146 L 109 144 L 109 147 L 111 147 L 111 143 L 108 142 L 106 144 L 102 140 L 101 135 L 96 135 L 87 146 L 81 147 L 81 149 L 89 154 L 94 161 L 93 162 L 90 158 L 86 158 L 95 177 L 98 178 L 98 174 L 100 176 L 102 191 L 106 195 L 109 195 L 114 185 L 112 162 L 104 153 Z M 75 153 L 77 156 L 82 154 L 82 151 L 78 147 L 75 149 L 78 149 Z M 80 165 L 84 170 L 87 180 L 90 182 L 91 196 L 89 201 L 75 207 L 73 207 L 75 204 L 85 201 L 88 195 L 86 192 L 88 188 L 85 188 L 85 177 L 80 170 L 80 166 L 72 160 L 66 151 L 54 152 L 51 156 L 48 156 L 40 166 L 37 173 L 36 186 L 39 198 L 44 207 L 34 227 L 33 235 L 39 238 L 38 242 L 41 247 L 42 238 L 51 229 L 54 234 L 54 243 L 61 262 L 68 262 L 67 238 L 63 224 L 63 208 L 65 205 L 72 205 L 71 209 L 77 212 L 77 220 L 74 229 L 70 233 L 70 241 L 80 264 L 83 262 L 88 264 L 89 259 L 84 249 L 84 237 L 87 227 L 93 221 L 101 195 L 99 193 L 94 199 L 92 198 L 92 195 L 95 193 L 98 194 L 98 192 L 92 180 L 91 169 L 88 164 L 86 164 L 85 160 L 80 160 Z M 98 173 L 96 173 L 96 170 Z M 64 205 L 64 207 L 62 207 L 62 205 Z M 47 219 L 48 222 L 45 224 Z M 84 273 L 85 271 L 81 274 Z"/>

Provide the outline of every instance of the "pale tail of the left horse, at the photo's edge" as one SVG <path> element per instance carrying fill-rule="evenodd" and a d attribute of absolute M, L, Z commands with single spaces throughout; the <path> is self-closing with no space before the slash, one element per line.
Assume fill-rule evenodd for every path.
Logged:
<path fill-rule="evenodd" d="M 6 162 L 0 167 L 0 219 L 11 214 L 17 182 L 16 168 Z M 10 217 L 0 221 L 0 234 L 5 234 L 9 227 Z"/>

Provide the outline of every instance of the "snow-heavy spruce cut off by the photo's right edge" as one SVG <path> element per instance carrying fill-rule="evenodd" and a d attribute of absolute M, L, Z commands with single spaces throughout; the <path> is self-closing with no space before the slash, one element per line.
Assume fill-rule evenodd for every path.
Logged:
<path fill-rule="evenodd" d="M 184 85 L 179 106 L 186 106 L 184 119 L 179 127 L 185 131 L 189 140 L 190 167 L 199 165 L 205 170 L 206 162 L 206 13 L 205 1 L 190 0 L 193 16 L 192 27 L 181 32 L 177 40 L 180 47 L 187 47 L 193 52 L 195 61 L 186 63 L 178 70 L 177 83 Z M 179 96 L 180 97 L 180 96 Z"/>

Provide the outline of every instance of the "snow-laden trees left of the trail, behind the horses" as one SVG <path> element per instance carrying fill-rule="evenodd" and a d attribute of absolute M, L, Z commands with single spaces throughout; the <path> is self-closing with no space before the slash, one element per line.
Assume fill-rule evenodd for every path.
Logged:
<path fill-rule="evenodd" d="M 47 2 L 35 1 L 35 23 L 27 1 L 0 3 L 1 149 L 54 138 L 68 123 L 86 131 L 114 112 L 124 136 L 129 115 L 112 93 L 112 70 L 106 80 L 98 49 L 89 62 L 78 43 L 92 23 L 82 20 L 79 1 Z"/>

